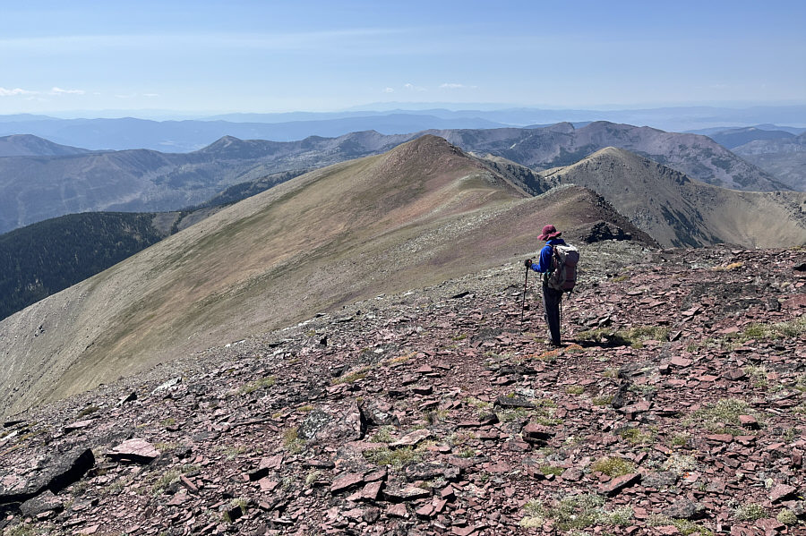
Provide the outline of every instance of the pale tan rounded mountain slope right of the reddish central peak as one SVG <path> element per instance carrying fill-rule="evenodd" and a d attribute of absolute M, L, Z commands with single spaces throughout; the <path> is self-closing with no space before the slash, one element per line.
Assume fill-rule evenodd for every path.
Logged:
<path fill-rule="evenodd" d="M 665 246 L 720 242 L 744 247 L 806 243 L 806 193 L 733 191 L 622 149 L 602 149 L 577 164 L 547 171 L 547 179 L 585 186 L 610 200 Z"/>

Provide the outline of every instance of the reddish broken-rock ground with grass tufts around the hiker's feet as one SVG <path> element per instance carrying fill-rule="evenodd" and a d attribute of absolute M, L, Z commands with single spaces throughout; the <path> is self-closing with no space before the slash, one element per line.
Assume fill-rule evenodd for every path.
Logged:
<path fill-rule="evenodd" d="M 519 265 L 211 348 L 5 422 L 0 529 L 806 534 L 804 261 L 596 244 L 561 349 Z"/>

